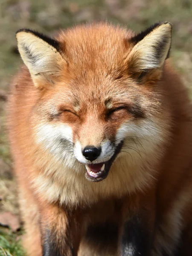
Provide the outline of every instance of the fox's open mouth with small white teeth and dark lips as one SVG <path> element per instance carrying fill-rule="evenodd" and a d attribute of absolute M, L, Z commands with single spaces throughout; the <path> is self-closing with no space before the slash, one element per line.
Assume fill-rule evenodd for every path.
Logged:
<path fill-rule="evenodd" d="M 87 172 L 85 174 L 85 177 L 87 180 L 98 182 L 101 180 L 104 180 L 108 176 L 108 172 L 111 168 L 111 165 L 113 161 L 115 160 L 117 154 L 119 154 L 121 148 L 122 148 L 123 142 L 119 143 L 117 146 L 113 156 L 110 158 L 110 160 L 103 162 L 103 163 L 90 163 L 86 164 L 85 168 L 87 169 Z"/>

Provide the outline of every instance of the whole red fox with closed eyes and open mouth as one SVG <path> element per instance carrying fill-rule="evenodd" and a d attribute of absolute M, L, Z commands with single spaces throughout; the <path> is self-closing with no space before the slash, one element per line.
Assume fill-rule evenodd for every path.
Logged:
<path fill-rule="evenodd" d="M 171 34 L 17 32 L 8 128 L 28 256 L 192 255 L 192 108 Z"/>

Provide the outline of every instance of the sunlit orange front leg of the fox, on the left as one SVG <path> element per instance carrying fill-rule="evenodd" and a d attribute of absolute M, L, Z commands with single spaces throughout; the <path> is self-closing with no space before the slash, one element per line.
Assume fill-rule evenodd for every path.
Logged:
<path fill-rule="evenodd" d="M 43 256 L 77 256 L 81 230 L 76 216 L 46 204 L 40 214 Z"/>

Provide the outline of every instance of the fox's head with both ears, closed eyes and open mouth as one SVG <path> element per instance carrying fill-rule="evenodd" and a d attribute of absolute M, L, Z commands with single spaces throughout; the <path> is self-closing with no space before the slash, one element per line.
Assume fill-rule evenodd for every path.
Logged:
<path fill-rule="evenodd" d="M 38 95 L 35 143 L 90 181 L 105 179 L 118 158 L 133 165 L 158 158 L 169 125 L 162 87 L 171 31 L 168 22 L 137 35 L 106 23 L 55 39 L 19 30 Z"/>

